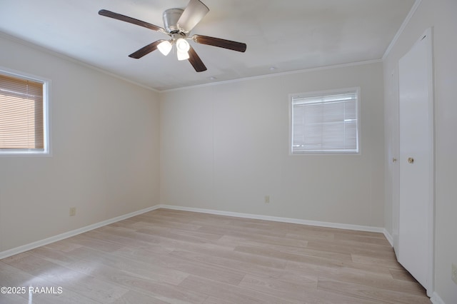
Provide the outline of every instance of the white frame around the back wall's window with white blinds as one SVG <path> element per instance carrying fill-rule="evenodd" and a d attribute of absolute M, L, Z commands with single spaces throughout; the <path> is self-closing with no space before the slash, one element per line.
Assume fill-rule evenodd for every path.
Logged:
<path fill-rule="evenodd" d="M 356 93 L 356 140 L 357 140 L 357 151 L 293 151 L 293 99 L 294 98 L 312 98 L 320 96 L 331 96 L 343 93 L 353 92 Z M 361 155 L 361 88 L 350 87 L 350 88 L 336 88 L 326 91 L 310 91 L 304 93 L 290 93 L 288 95 L 288 106 L 289 106 L 289 119 L 288 119 L 288 153 L 289 156 L 303 156 L 303 155 Z"/>

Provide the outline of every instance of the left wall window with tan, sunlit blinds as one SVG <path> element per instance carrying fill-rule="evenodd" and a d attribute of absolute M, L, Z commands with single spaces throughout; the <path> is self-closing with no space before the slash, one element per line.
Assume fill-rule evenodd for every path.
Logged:
<path fill-rule="evenodd" d="M 48 154 L 49 81 L 0 71 L 0 154 Z"/>

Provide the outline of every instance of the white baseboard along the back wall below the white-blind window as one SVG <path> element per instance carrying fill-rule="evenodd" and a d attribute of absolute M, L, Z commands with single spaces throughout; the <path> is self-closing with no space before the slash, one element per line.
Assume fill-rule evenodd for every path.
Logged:
<path fill-rule="evenodd" d="M 192 212 L 199 212 L 199 213 L 210 213 L 210 214 L 215 214 L 218 216 L 233 216 L 236 218 L 253 218 L 256 220 L 293 223 L 293 224 L 319 226 L 319 227 L 326 227 L 326 228 L 338 228 L 338 229 L 377 232 L 377 233 L 383 233 L 384 235 L 386 235 L 386 233 L 387 233 L 387 230 L 385 228 L 373 227 L 373 226 L 360 226 L 360 225 L 351 225 L 351 224 L 342 224 L 342 223 L 308 221 L 308 220 L 301 220 L 298 218 L 281 218 L 281 217 L 277 217 L 277 216 L 259 216 L 259 215 L 251 214 L 251 213 L 238 213 L 238 212 L 230 212 L 230 211 L 219 211 L 219 210 L 213 210 L 213 209 L 191 208 L 191 207 L 163 205 L 163 204 L 159 205 L 159 208 L 179 210 L 179 211 L 192 211 Z M 389 240 L 389 242 L 390 242 L 390 240 Z"/>

